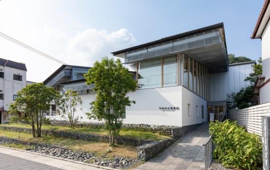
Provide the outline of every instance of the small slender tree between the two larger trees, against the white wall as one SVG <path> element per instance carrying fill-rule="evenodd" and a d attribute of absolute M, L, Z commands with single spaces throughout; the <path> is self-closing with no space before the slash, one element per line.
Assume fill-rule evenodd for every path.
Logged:
<path fill-rule="evenodd" d="M 74 126 L 77 122 L 83 119 L 83 117 L 76 117 L 75 112 L 78 110 L 82 110 L 81 106 L 83 104 L 83 100 L 78 96 L 78 92 L 74 92 L 73 90 L 68 90 L 63 98 L 60 100 L 60 109 L 63 112 L 61 116 L 63 119 L 69 122 L 69 127 L 74 129 Z"/>

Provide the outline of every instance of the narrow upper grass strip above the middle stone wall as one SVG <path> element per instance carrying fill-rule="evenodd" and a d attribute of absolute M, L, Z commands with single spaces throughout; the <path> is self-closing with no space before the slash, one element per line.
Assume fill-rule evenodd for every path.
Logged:
<path fill-rule="evenodd" d="M 22 128 L 30 128 L 30 125 L 23 125 L 23 124 L 0 124 L 0 126 L 11 126 L 11 127 L 22 127 Z M 97 134 L 97 135 L 108 135 L 109 133 L 105 129 L 90 129 L 90 128 L 75 128 L 70 129 L 69 127 L 62 127 L 62 126 L 47 126 L 44 125 L 41 127 L 42 130 L 59 130 L 65 132 L 73 132 L 73 133 L 86 133 L 86 134 Z M 130 138 L 142 138 L 142 139 L 150 139 L 150 140 L 161 140 L 170 138 L 168 136 L 163 136 L 151 132 L 139 132 L 139 131 L 132 131 L 132 130 L 121 130 L 120 137 L 130 137 Z"/>

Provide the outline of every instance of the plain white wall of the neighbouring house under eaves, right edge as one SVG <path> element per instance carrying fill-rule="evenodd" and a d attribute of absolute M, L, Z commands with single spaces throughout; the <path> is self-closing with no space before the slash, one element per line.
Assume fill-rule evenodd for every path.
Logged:
<path fill-rule="evenodd" d="M 264 28 L 262 33 L 262 74 L 264 81 L 270 78 L 270 22 Z M 260 89 L 260 104 L 270 102 L 270 82 Z"/>

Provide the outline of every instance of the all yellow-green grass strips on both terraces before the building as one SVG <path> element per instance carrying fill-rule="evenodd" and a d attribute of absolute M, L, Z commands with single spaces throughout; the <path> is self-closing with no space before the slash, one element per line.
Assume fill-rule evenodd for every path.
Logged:
<path fill-rule="evenodd" d="M 30 125 L 22 125 L 22 124 L 5 124 L 0 126 L 11 126 L 11 127 L 23 127 L 23 128 L 31 128 Z M 62 126 L 42 126 L 43 130 L 60 130 L 74 133 L 89 133 L 89 134 L 97 134 L 97 135 L 108 135 L 105 129 L 89 129 L 89 128 L 75 128 L 70 129 L 69 127 Z M 20 137 L 18 137 L 20 135 Z M 99 143 L 96 141 L 84 141 L 84 140 L 74 140 L 70 138 L 63 137 L 53 137 L 53 136 L 42 136 L 42 137 L 33 137 L 32 133 L 26 132 L 14 132 L 14 131 L 5 131 L 0 130 L 0 136 L 19 138 L 24 141 L 35 141 L 44 144 L 51 145 L 60 145 L 64 147 L 68 147 L 74 150 L 84 150 L 89 151 L 91 153 L 95 153 L 97 156 L 105 155 L 106 157 L 112 156 L 121 156 L 126 158 L 137 158 L 137 147 L 125 146 L 125 145 L 116 145 L 115 147 L 110 147 L 107 143 Z M 150 132 L 139 132 L 139 131 L 120 131 L 121 137 L 131 137 L 131 138 L 143 138 L 143 139 L 151 139 L 151 140 L 160 140 L 170 138 L 168 136 L 158 135 Z M 17 148 L 17 149 L 26 149 L 27 146 L 22 145 L 10 145 L 9 147 Z M 107 149 L 110 149 L 112 152 L 107 153 Z"/>

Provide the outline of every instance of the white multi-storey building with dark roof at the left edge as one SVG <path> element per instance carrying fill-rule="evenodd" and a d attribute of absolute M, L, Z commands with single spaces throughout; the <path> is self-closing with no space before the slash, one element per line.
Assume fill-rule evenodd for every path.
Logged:
<path fill-rule="evenodd" d="M 5 124 L 11 115 L 7 110 L 18 97 L 17 92 L 26 85 L 26 66 L 0 58 L 0 123 Z M 31 83 L 31 82 L 29 82 Z"/>

